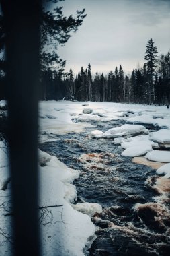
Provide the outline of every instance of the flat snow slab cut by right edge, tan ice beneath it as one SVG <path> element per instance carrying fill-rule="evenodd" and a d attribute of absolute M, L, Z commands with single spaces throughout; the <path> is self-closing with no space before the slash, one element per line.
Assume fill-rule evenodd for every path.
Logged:
<path fill-rule="evenodd" d="M 153 150 L 151 152 L 148 152 L 145 157 L 148 160 L 155 161 L 155 162 L 170 162 L 169 151 Z"/>

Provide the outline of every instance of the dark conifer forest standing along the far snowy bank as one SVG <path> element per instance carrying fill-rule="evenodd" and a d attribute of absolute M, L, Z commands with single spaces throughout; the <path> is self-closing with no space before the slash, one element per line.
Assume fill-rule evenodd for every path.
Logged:
<path fill-rule="evenodd" d="M 146 63 L 130 75 L 122 65 L 107 75 L 91 73 L 91 65 L 74 77 L 69 73 L 48 69 L 46 97 L 43 100 L 80 100 L 94 102 L 133 102 L 137 104 L 168 104 L 170 102 L 170 52 L 157 56 L 157 47 L 151 38 L 146 43 Z"/>

